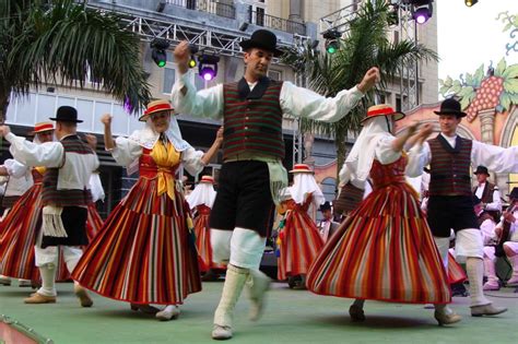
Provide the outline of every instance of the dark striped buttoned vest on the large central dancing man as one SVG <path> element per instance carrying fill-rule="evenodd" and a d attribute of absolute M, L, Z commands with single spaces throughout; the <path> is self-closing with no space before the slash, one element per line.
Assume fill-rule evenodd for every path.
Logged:
<path fill-rule="evenodd" d="M 243 153 L 284 158 L 281 88 L 282 82 L 268 78 L 261 79 L 252 92 L 244 79 L 223 86 L 223 159 Z"/>

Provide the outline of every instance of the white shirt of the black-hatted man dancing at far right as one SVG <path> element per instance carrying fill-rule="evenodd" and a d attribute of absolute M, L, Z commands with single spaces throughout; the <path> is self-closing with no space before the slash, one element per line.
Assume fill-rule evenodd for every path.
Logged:
<path fill-rule="evenodd" d="M 448 143 L 455 147 L 457 135 L 448 138 L 440 133 Z M 474 166 L 483 165 L 487 169 L 497 174 L 511 174 L 518 171 L 518 146 L 504 149 L 496 145 L 472 141 L 471 164 Z M 423 168 L 432 161 L 432 151 L 429 144 L 424 142 L 413 146 L 409 152 L 409 164 L 407 165 L 407 175 L 410 177 L 420 176 Z"/>

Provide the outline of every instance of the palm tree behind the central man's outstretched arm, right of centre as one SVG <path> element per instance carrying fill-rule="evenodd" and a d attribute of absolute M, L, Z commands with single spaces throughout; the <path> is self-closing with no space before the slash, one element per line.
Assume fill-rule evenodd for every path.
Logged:
<path fill-rule="evenodd" d="M 387 82 L 397 80 L 404 63 L 420 60 L 437 60 L 437 55 L 421 44 L 409 40 L 391 43 L 387 38 L 389 15 L 388 1 L 366 1 L 357 15 L 349 22 L 349 29 L 340 40 L 340 49 L 328 55 L 311 48 L 308 43 L 303 49 L 292 48 L 283 62 L 293 66 L 298 74 L 307 79 L 308 86 L 326 96 L 334 96 L 341 90 L 356 85 L 373 66 L 381 71 L 381 82 L 369 92 L 351 114 L 334 123 L 303 119 L 302 132 L 313 131 L 334 138 L 338 166 L 343 164 L 348 133 L 357 133 L 366 108 L 374 102 L 374 94 Z"/>

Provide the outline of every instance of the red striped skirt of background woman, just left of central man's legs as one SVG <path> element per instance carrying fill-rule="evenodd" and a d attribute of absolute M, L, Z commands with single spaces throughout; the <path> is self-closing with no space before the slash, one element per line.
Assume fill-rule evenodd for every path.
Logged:
<path fill-rule="evenodd" d="M 209 226 L 209 215 L 211 209 L 204 204 L 197 205 L 197 215 L 195 217 L 196 248 L 200 258 L 200 270 L 202 272 L 209 269 L 226 269 L 224 264 L 217 264 L 212 261 L 211 227 Z"/>

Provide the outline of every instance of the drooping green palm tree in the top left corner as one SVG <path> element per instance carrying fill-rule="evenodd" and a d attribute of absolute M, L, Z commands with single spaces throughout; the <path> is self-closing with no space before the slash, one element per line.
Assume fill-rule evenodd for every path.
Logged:
<path fill-rule="evenodd" d="M 132 111 L 150 99 L 139 37 L 114 13 L 72 0 L 3 0 L 0 4 L 0 122 L 11 94 L 61 84 L 94 86 Z"/>

